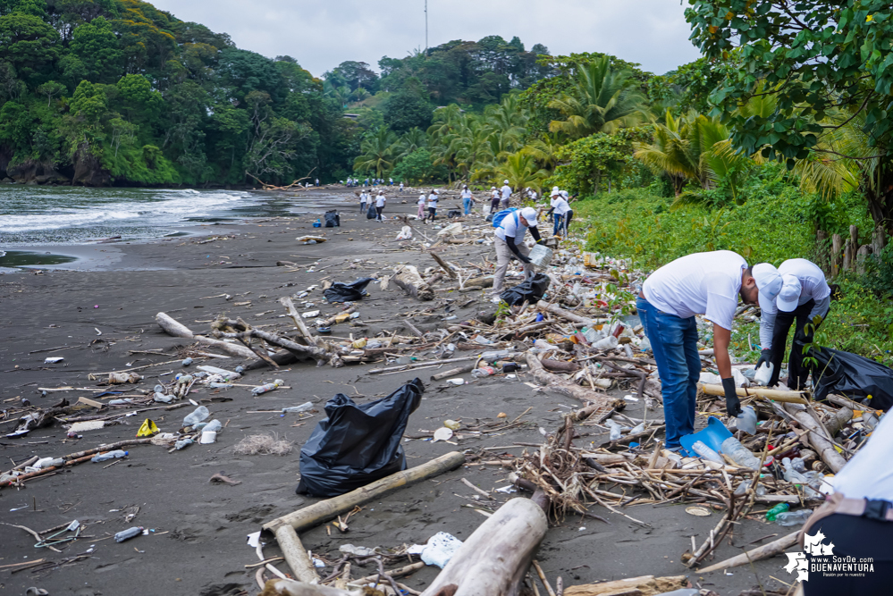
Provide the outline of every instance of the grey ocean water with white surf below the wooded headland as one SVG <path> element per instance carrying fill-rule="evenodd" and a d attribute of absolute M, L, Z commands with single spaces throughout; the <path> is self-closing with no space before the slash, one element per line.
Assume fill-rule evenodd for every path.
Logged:
<path fill-rule="evenodd" d="M 299 215 L 343 206 L 315 192 L 282 197 L 242 190 L 88 189 L 0 185 L 0 249 L 154 239 L 202 223 Z"/>

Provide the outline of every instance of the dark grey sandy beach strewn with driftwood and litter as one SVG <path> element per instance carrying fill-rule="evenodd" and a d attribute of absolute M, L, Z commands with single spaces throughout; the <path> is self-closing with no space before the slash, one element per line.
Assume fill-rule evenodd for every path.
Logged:
<path fill-rule="evenodd" d="M 160 311 L 197 332 L 205 332 L 222 313 L 231 318 L 242 317 L 263 328 L 282 323 L 284 309 L 279 298 L 306 290 L 324 277 L 353 281 L 386 273 L 387 267 L 400 262 L 433 264 L 417 248 L 400 248 L 400 241 L 395 239 L 399 222 L 367 220 L 359 214 L 352 190 L 341 192 L 345 196 L 341 228 L 313 228 L 312 222 L 322 215 L 320 211 L 296 218 L 199 226 L 191 230 L 190 236 L 152 242 L 89 245 L 68 252 L 41 248 L 62 254 L 76 252 L 82 260 L 70 269 L 0 276 L 0 326 L 5 330 L 0 343 L 0 402 L 4 409 L 21 407 L 22 399 L 34 406 L 50 407 L 63 399 L 74 403 L 80 397 L 92 398 L 96 395 L 92 390 L 103 388 L 88 380 L 88 374 L 167 363 L 142 369 L 139 372 L 145 378 L 138 385 L 129 386 L 151 389 L 157 379 L 181 372 L 178 350 L 190 341 L 166 335 L 155 322 Z M 385 214 L 415 213 L 414 195 L 406 193 L 405 201 L 389 201 Z M 442 213 L 455 203 L 453 199 L 443 201 Z M 324 234 L 327 241 L 316 245 L 296 242 L 296 238 L 306 234 Z M 479 262 L 487 251 L 492 248 L 456 246 L 442 256 Z M 277 261 L 299 264 L 299 271 L 277 266 Z M 308 273 L 311 267 L 314 271 Z M 379 333 L 409 332 L 404 321 L 410 314 L 414 314 L 413 324 L 427 332 L 442 327 L 447 316 L 468 320 L 494 308 L 482 292 L 460 296 L 438 292 L 434 301 L 422 303 L 399 290 L 381 290 L 377 283 L 370 285 L 368 291 L 370 296 L 358 303 L 358 320 L 366 321 L 366 326 L 334 325 L 333 336 L 372 338 Z M 321 298 L 318 290 L 311 296 Z M 468 303 L 469 298 L 476 299 Z M 340 306 L 322 300 L 317 300 L 314 308 L 320 308 L 323 315 L 340 310 Z M 145 353 L 151 350 L 160 352 Z M 45 364 L 46 357 L 64 360 Z M 239 362 L 238 358 L 231 358 L 196 364 L 232 369 Z M 5 525 L 0 534 L 4 537 L 0 541 L 0 593 L 23 594 L 29 586 L 46 589 L 54 596 L 232 596 L 259 592 L 257 569 L 246 567 L 257 563 L 255 550 L 246 545 L 246 536 L 257 532 L 264 522 L 313 502 L 314 499 L 295 494 L 299 449 L 324 417 L 323 407 L 328 399 L 342 392 L 365 403 L 391 393 L 414 376 L 410 372 L 367 374 L 370 368 L 380 365 L 332 368 L 302 363 L 283 366 L 278 371 L 250 371 L 244 377 L 246 384 L 260 385 L 279 378 L 286 388 L 257 397 L 248 387 L 201 389 L 190 394 L 224 424 L 214 444 L 196 444 L 170 453 L 154 445 L 137 445 L 129 449 L 128 457 L 114 462 L 88 462 L 35 479 L 22 489 L 0 490 L 0 521 L 4 524 L 26 526 L 38 532 L 75 519 L 86 526 L 79 540 L 61 545 L 62 552 L 53 552 L 35 548 L 29 533 Z M 438 370 L 418 373 L 426 390 L 421 407 L 409 419 L 410 439 L 404 442 L 409 466 L 452 450 L 498 448 L 492 452 L 519 455 L 523 449 L 533 448 L 517 443 L 542 442 L 541 427 L 554 431 L 562 423 L 563 413 L 579 407 L 569 398 L 527 386 L 525 382 L 530 379 L 524 373 L 516 379 L 494 376 L 454 387 L 430 381 L 430 375 Z M 471 380 L 470 374 L 463 376 Z M 46 395 L 38 390 L 63 386 L 89 390 Z M 282 407 L 306 401 L 314 403 L 313 416 L 279 413 Z M 124 424 L 83 432 L 81 439 L 69 439 L 60 424 L 18 438 L 0 438 L 0 454 L 7 464 L 2 467 L 7 469 L 12 466 L 11 461 L 18 463 L 34 455 L 62 456 L 101 443 L 131 439 L 146 417 L 162 431 L 173 432 L 192 409 L 139 413 L 125 418 Z M 626 413 L 641 416 L 641 410 L 642 405 L 631 405 Z M 464 434 L 459 441 L 453 440 L 455 445 L 411 438 L 426 436 L 446 419 L 477 425 L 497 421 L 500 413 L 505 413 L 509 420 L 523 414 L 519 421 L 524 424 L 499 433 Z M 662 412 L 653 410 L 649 416 L 660 418 Z M 14 419 L 16 416 L 0 420 L 4 435 L 13 431 Z M 277 457 L 233 453 L 233 445 L 243 437 L 262 432 L 275 432 L 293 441 L 291 454 Z M 604 439 L 599 427 L 584 425 L 578 432 L 577 444 L 598 444 Z M 338 560 L 339 547 L 348 543 L 392 549 L 424 543 L 437 532 L 464 539 L 484 521 L 476 508 L 494 510 L 518 495 L 497 492 L 494 500 L 482 501 L 475 499 L 476 494 L 460 479 L 490 491 L 507 486 L 509 472 L 497 466 L 461 466 L 367 503 L 361 512 L 351 516 L 348 533 L 320 525 L 302 533 L 301 539 L 307 549 L 328 561 Z M 240 484 L 209 483 L 217 473 Z M 136 515 L 125 521 L 125 516 L 134 511 Z M 691 549 L 691 536 L 702 542 L 719 521 L 721 512 L 691 516 L 678 503 L 632 506 L 624 511 L 650 527 L 633 524 L 601 507 L 592 508 L 592 512 L 607 518 L 610 524 L 580 516 L 551 520 L 552 527 L 537 554 L 545 573 L 552 577 L 561 575 L 565 585 L 638 575 L 688 575 L 695 587 L 710 589 L 720 596 L 759 589 L 761 584 L 766 591 L 787 590 L 785 584 L 770 578 L 788 576 L 781 568 L 785 561 L 779 558 L 708 575 L 698 575 L 681 564 L 680 556 Z M 737 526 L 731 544 L 726 541 L 719 546 L 712 562 L 740 553 L 741 547 L 749 543 L 789 531 L 759 521 L 757 518 L 762 516 L 752 517 Z M 121 543 L 114 541 L 114 533 L 133 525 L 148 529 L 148 535 Z M 265 557 L 279 554 L 272 535 L 265 535 L 262 540 L 266 543 Z M 36 574 L 27 568 L 13 573 L 6 567 L 37 558 L 62 560 L 88 550 L 91 551 L 86 558 Z M 278 567 L 288 571 L 282 563 Z M 374 570 L 370 565 L 366 573 Z M 421 590 L 438 571 L 436 567 L 425 567 L 401 581 Z M 359 575 L 359 570 L 355 575 Z"/>

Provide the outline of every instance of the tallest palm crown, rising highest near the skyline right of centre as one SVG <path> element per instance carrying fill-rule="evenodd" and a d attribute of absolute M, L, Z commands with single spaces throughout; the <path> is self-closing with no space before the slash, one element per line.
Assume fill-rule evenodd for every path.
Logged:
<path fill-rule="evenodd" d="M 550 122 L 549 130 L 563 132 L 571 139 L 596 132 L 610 134 L 651 120 L 645 97 L 631 73 L 612 70 L 607 56 L 577 71 L 574 86 L 549 102 L 549 107 L 565 117 Z"/>

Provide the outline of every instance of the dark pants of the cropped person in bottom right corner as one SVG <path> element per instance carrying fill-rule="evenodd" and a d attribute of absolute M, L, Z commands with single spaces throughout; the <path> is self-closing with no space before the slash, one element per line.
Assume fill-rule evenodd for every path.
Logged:
<path fill-rule="evenodd" d="M 873 571 L 864 575 L 847 576 L 845 572 L 810 571 L 803 582 L 805 596 L 886 596 L 893 583 L 893 522 L 880 522 L 865 517 L 844 516 L 839 513 L 825 517 L 808 532 L 825 535 L 822 544 L 834 544 L 832 554 L 838 558 L 853 557 L 856 561 L 872 558 Z M 834 574 L 832 576 L 828 573 Z M 861 571 L 850 573 L 863 573 Z M 839 576 L 838 576 L 839 575 Z"/>

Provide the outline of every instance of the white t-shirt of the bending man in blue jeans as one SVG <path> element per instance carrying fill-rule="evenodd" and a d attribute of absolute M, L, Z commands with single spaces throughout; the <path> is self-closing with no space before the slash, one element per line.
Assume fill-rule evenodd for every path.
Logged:
<path fill-rule="evenodd" d="M 730 250 L 695 253 L 663 265 L 645 280 L 642 291 L 664 313 L 683 319 L 705 315 L 731 331 L 746 268 L 744 257 Z"/>

